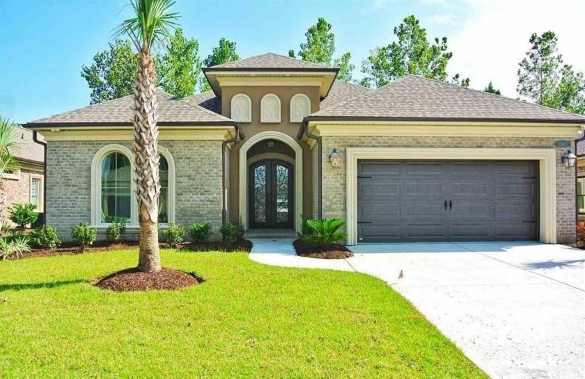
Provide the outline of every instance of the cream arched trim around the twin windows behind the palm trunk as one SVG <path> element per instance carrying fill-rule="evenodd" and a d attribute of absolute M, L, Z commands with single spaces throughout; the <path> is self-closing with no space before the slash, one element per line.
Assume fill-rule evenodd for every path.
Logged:
<path fill-rule="evenodd" d="M 167 204 L 167 213 L 169 223 L 175 222 L 175 161 L 173 156 L 165 147 L 159 146 L 159 154 L 164 156 L 166 162 L 169 164 L 169 193 Z M 102 209 L 102 162 L 106 156 L 111 153 L 118 152 L 124 154 L 130 160 L 130 170 L 132 171 L 132 178 L 130 180 L 130 193 L 132 193 L 132 202 L 130 202 L 130 222 L 128 227 L 138 227 L 138 202 L 136 199 L 136 179 L 134 176 L 134 154 L 130 149 L 123 145 L 111 144 L 102 147 L 93 156 L 91 163 L 91 225 L 92 227 L 105 228 L 110 223 L 102 223 L 101 209 Z M 167 224 L 161 224 L 167 225 Z"/>

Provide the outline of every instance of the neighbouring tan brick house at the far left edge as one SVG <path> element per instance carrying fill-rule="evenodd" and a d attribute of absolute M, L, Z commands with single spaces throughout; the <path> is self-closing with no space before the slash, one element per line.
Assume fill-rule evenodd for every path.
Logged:
<path fill-rule="evenodd" d="M 43 188 L 45 182 L 45 149 L 33 140 L 33 132 L 29 129 L 16 127 L 19 137 L 17 150 L 13 153 L 17 165 L 8 167 L 1 174 L 3 191 L 6 194 L 6 207 L 3 217 L 6 225 L 15 226 L 8 220 L 8 208 L 15 203 L 36 204 L 39 213 L 44 211 Z M 38 134 L 37 134 L 38 135 Z M 40 135 L 38 138 L 42 141 Z M 39 222 L 42 221 L 42 214 Z"/>

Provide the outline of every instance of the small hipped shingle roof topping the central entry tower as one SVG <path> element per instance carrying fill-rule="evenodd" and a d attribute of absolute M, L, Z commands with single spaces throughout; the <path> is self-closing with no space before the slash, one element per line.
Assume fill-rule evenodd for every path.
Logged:
<path fill-rule="evenodd" d="M 337 69 L 318 65 L 317 63 L 301 61 L 300 59 L 290 58 L 274 53 L 266 53 L 250 58 L 241 59 L 240 61 L 228 62 L 217 66 L 207 67 L 203 70 L 215 69 L 251 69 L 251 70 L 324 70 L 336 71 Z"/>

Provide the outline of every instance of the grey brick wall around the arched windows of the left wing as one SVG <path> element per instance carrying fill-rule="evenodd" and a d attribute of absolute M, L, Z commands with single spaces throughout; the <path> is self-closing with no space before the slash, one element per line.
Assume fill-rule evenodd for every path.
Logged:
<path fill-rule="evenodd" d="M 91 221 L 91 162 L 106 145 L 128 141 L 52 141 L 47 145 L 47 223 L 70 240 L 70 228 Z M 214 238 L 221 227 L 221 141 L 163 140 L 175 162 L 175 221 L 211 223 Z M 129 226 L 129 238 L 136 236 Z M 100 237 L 102 233 L 100 233 Z"/>

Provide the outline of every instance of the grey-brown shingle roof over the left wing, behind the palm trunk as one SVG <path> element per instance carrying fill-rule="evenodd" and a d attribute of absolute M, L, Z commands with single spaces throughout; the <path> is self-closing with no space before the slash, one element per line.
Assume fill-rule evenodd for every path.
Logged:
<path fill-rule="evenodd" d="M 199 106 L 196 102 L 173 97 L 157 90 L 159 124 L 235 124 L 222 115 Z M 52 115 L 29 122 L 27 126 L 42 124 L 130 124 L 134 111 L 134 95 L 86 106 L 75 111 Z"/>

